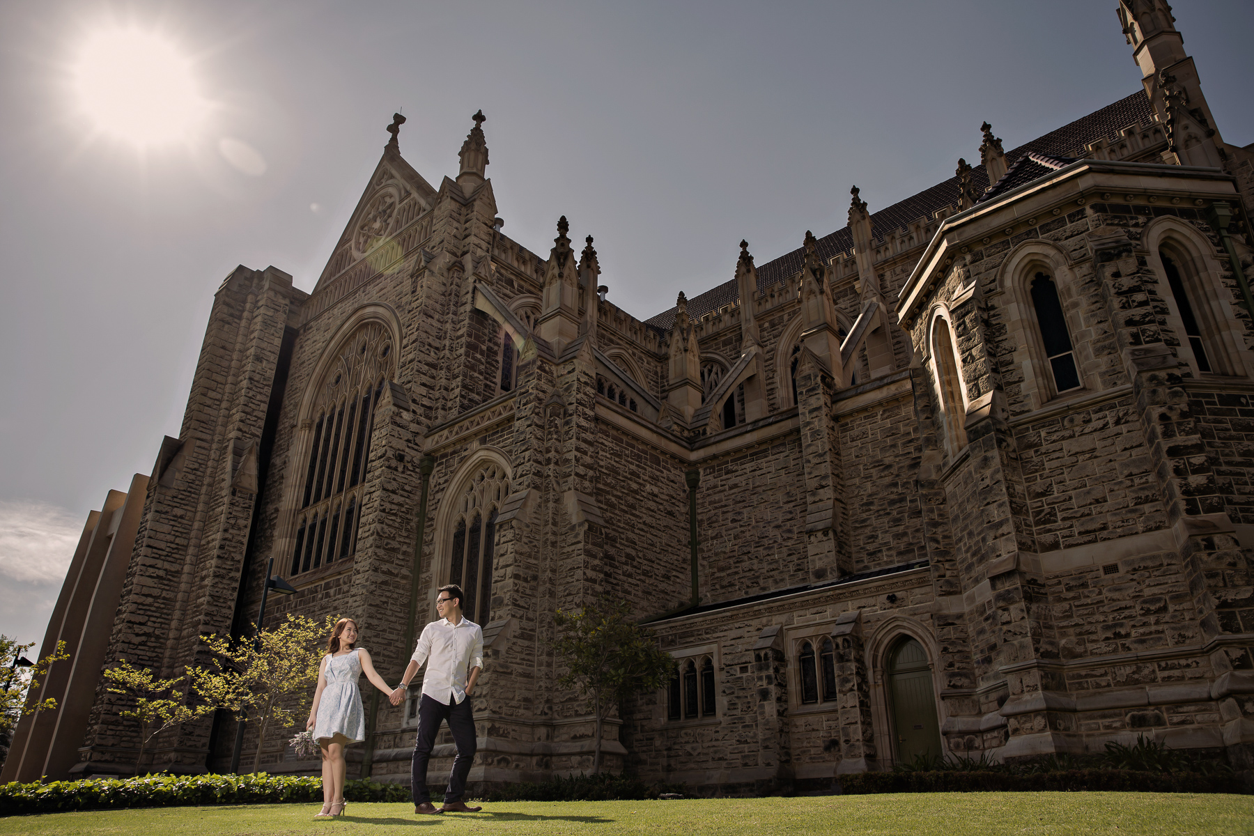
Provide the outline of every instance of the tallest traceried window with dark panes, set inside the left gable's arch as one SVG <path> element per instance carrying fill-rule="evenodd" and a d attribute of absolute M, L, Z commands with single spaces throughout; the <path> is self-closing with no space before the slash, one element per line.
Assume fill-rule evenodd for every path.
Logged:
<path fill-rule="evenodd" d="M 301 510 L 295 520 L 293 575 L 356 550 L 375 406 L 394 368 L 391 332 L 380 322 L 366 322 L 340 345 L 317 385 L 307 425 L 311 439 Z"/>

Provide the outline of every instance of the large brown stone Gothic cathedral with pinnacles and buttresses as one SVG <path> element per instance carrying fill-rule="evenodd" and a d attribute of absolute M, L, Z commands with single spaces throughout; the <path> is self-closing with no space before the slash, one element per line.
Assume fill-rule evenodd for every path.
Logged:
<path fill-rule="evenodd" d="M 463 584 L 472 781 L 591 766 L 549 642 L 603 594 L 678 663 L 604 729 L 646 780 L 764 791 L 1142 733 L 1254 766 L 1254 152 L 1167 4 L 1119 16 L 1142 89 L 1008 153 L 986 123 L 979 164 L 880 211 L 854 188 L 848 227 L 760 266 L 742 242 L 731 281 L 647 320 L 566 218 L 552 248 L 504 234 L 482 114 L 439 185 L 398 118 L 312 293 L 275 267 L 218 287 L 178 435 L 87 520 L 44 643 L 74 654 L 40 692 L 61 707 L 0 780 L 130 772 L 100 669 L 202 661 L 271 563 L 298 592 L 267 624 L 352 615 L 391 681 Z M 350 772 L 408 781 L 414 704 L 367 711 Z M 263 767 L 316 772 L 288 734 Z M 234 737 L 148 752 L 224 771 Z"/>

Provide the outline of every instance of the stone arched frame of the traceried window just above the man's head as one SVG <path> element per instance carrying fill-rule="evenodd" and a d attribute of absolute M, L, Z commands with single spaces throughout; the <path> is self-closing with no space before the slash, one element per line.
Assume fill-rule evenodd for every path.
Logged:
<path fill-rule="evenodd" d="M 428 593 L 433 613 L 435 589 L 446 583 L 458 583 L 466 597 L 463 602 L 465 617 L 480 627 L 489 623 L 493 572 L 497 564 L 497 516 L 509 495 L 512 478 L 509 459 L 504 452 L 495 447 L 480 447 L 449 479 L 449 488 L 440 496 L 436 509 L 434 583 Z M 460 554 L 455 554 L 459 545 Z M 473 562 L 472 545 L 475 548 Z"/>

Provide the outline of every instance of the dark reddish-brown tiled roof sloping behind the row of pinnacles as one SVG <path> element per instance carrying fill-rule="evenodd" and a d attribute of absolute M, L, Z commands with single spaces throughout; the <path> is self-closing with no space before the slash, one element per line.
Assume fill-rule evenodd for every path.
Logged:
<path fill-rule="evenodd" d="M 1152 113 L 1145 91 L 1137 90 L 1126 99 L 1120 99 L 1115 104 L 1106 105 L 1101 110 L 1090 113 L 1087 117 L 1076 119 L 1057 130 L 1051 130 L 1043 137 L 1037 137 L 1030 143 L 1011 149 L 1006 154 L 1006 158 L 1011 160 L 1011 170 L 1007 170 L 1006 177 L 998 182 L 996 193 L 1016 188 L 1031 179 L 1042 177 L 1048 170 L 1053 170 L 1041 160 L 1028 158 L 1030 153 L 1035 152 L 1043 158 L 1055 160 L 1078 157 L 1083 154 L 1083 147 L 1088 143 L 1097 139 L 1114 139 L 1120 130 L 1129 125 L 1152 122 Z M 1018 165 L 1017 163 L 1021 158 L 1028 162 Z M 1067 162 L 1071 160 L 1067 159 Z M 1012 179 L 1007 180 L 1007 178 Z M 984 173 L 983 165 L 977 165 L 972 169 L 971 179 L 977 192 L 983 192 L 988 185 L 988 175 Z M 957 204 L 958 178 L 951 177 L 929 189 L 919 192 L 914 197 L 872 213 L 870 218 L 875 238 L 883 241 L 884 233 L 890 229 L 905 228 L 910 222 L 929 216 L 939 208 Z M 826 261 L 836 253 L 849 252 L 853 246 L 854 239 L 849 232 L 849 227 L 843 227 L 831 234 L 819 238 L 819 256 Z M 761 291 L 799 272 L 804 254 L 805 249 L 798 248 L 760 266 L 757 268 L 757 290 Z M 732 280 L 690 298 L 688 316 L 697 318 L 739 298 L 740 291 L 736 287 L 736 281 Z M 668 311 L 658 313 L 646 320 L 645 323 L 668 331 L 675 326 L 675 308 L 672 307 Z"/>

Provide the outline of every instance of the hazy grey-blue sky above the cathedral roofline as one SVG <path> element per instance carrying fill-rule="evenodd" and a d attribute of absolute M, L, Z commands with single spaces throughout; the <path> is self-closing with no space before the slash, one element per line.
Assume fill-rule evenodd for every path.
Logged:
<path fill-rule="evenodd" d="M 1013 148 L 1139 90 L 1115 9 L 0 3 L 0 633 L 43 638 L 88 511 L 178 434 L 222 280 L 273 264 L 312 290 L 395 110 L 438 187 L 482 108 L 505 234 L 544 256 L 566 214 L 643 320 L 732 278 L 742 237 L 761 264 L 843 227 L 851 184 L 874 212 L 952 177 L 984 119 Z M 1254 4 L 1174 13 L 1250 144 Z M 154 95 L 173 115 L 84 70 L 119 30 L 183 68 Z"/>

